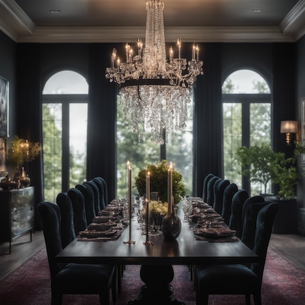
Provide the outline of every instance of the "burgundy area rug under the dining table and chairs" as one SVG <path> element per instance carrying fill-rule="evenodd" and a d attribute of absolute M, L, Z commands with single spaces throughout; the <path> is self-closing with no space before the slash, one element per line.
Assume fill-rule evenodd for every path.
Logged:
<path fill-rule="evenodd" d="M 195 292 L 186 266 L 173 266 L 173 298 L 195 305 Z M 122 278 L 122 292 L 116 305 L 126 305 L 138 296 L 144 284 L 139 277 L 140 266 L 126 266 Z M 263 305 L 303 305 L 305 300 L 305 273 L 285 258 L 268 249 L 262 285 Z M 253 303 L 253 300 L 251 300 Z M 51 304 L 50 273 L 43 248 L 23 265 L 0 281 L 0 304 L 47 305 Z M 97 295 L 64 295 L 63 305 L 97 305 Z M 209 305 L 243 305 L 244 296 L 211 295 Z"/>

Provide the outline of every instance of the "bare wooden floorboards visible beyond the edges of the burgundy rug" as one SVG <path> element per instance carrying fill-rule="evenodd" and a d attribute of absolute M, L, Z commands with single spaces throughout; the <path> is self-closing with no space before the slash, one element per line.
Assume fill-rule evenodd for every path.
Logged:
<path fill-rule="evenodd" d="M 45 246 L 42 231 L 36 231 L 32 236 L 32 242 L 30 242 L 30 233 L 14 240 L 11 254 L 9 254 L 9 244 L 0 243 L 0 280 Z M 269 247 L 305 272 L 305 236 L 272 234 Z"/>

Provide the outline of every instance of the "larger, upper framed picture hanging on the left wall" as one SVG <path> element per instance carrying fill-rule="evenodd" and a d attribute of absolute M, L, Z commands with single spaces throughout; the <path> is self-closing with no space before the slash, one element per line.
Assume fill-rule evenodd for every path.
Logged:
<path fill-rule="evenodd" d="M 0 76 L 0 137 L 8 137 L 8 80 Z"/>

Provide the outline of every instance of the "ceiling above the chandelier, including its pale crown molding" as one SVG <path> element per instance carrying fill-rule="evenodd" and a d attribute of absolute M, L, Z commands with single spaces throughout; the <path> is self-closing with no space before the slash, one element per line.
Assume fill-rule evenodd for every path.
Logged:
<path fill-rule="evenodd" d="M 16 42 L 126 42 L 145 37 L 146 0 L 0 0 Z M 53 12 L 51 12 L 53 11 Z M 305 34 L 305 0 L 164 0 L 166 41 L 285 42 Z"/>

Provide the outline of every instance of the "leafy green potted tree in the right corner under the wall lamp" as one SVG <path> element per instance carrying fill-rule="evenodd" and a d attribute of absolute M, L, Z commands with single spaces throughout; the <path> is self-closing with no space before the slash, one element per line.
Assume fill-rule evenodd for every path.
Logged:
<path fill-rule="evenodd" d="M 236 152 L 237 161 L 243 167 L 242 174 L 248 175 L 250 182 L 262 183 L 265 194 L 261 195 L 280 205 L 273 233 L 290 234 L 297 231 L 296 185 L 303 172 L 298 172 L 296 163 L 302 153 L 305 153 L 305 147 L 298 142 L 295 142 L 293 156 L 289 158 L 283 152 L 273 152 L 266 144 L 241 147 Z M 269 181 L 278 187 L 274 195 L 266 195 Z"/>

